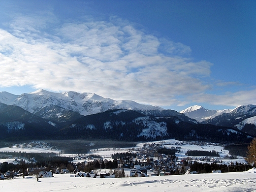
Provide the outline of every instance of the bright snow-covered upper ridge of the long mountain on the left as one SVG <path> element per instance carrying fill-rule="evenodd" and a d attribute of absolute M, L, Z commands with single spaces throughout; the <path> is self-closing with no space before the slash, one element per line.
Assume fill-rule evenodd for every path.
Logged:
<path fill-rule="evenodd" d="M 91 115 L 112 109 L 128 110 L 164 110 L 158 106 L 143 105 L 131 100 L 113 100 L 104 98 L 94 93 L 64 92 L 52 93 L 45 90 L 37 90 L 30 94 L 15 96 L 7 92 L 0 92 L 0 102 L 8 105 L 17 105 L 23 109 L 36 113 L 43 107 L 57 105 L 64 109 L 75 111 L 81 115 Z"/>

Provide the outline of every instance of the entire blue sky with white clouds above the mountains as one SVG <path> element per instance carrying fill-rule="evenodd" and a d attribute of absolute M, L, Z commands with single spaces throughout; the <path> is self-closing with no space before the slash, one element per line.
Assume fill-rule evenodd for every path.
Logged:
<path fill-rule="evenodd" d="M 255 0 L 1 0 L 0 92 L 181 111 L 256 104 Z"/>

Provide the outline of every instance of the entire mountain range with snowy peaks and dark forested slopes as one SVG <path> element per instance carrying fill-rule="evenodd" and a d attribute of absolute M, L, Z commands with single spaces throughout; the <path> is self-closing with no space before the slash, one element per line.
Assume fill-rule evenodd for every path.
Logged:
<path fill-rule="evenodd" d="M 181 112 L 93 93 L 0 92 L 0 139 L 116 139 L 250 142 L 256 106 Z"/>

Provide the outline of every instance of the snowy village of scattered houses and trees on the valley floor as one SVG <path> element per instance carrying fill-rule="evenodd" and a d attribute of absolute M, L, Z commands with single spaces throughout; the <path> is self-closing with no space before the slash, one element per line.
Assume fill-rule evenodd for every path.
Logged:
<path fill-rule="evenodd" d="M 45 142 L 16 144 L 22 149 L 47 149 L 55 147 Z M 218 157 L 186 155 L 188 151 L 218 152 Z M 161 175 L 179 175 L 196 173 L 221 173 L 245 171 L 250 165 L 242 157 L 231 157 L 220 144 L 182 142 L 177 140 L 147 142 L 133 148 L 92 149 L 87 154 L 61 154 L 59 158 L 68 158 L 68 163 L 55 166 L 34 166 L 33 158 L 0 155 L 0 170 L 13 164 L 19 170 L 7 170 L 0 179 L 12 179 L 17 176 L 54 177 L 54 174 L 70 174 L 70 177 L 115 178 L 150 177 Z M 236 158 L 236 159 L 234 159 Z M 239 158 L 239 159 L 238 159 Z M 53 164 L 53 163 L 52 163 Z M 57 167 L 57 165 L 59 165 Z M 31 167 L 30 167 L 31 166 Z M 24 170 L 26 167 L 26 170 Z"/>

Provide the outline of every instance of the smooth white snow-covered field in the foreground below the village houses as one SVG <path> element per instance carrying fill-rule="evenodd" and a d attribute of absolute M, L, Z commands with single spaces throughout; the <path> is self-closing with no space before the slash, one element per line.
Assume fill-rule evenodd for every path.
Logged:
<path fill-rule="evenodd" d="M 256 192 L 256 168 L 246 172 L 97 179 L 55 174 L 0 181 L 1 192 Z"/>

